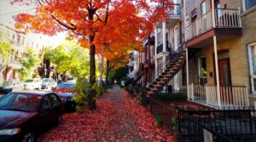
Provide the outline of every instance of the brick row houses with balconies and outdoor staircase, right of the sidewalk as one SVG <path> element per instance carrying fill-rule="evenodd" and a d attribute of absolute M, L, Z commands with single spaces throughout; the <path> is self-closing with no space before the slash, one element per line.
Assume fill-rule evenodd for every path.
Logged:
<path fill-rule="evenodd" d="M 171 86 L 201 105 L 256 107 L 256 1 L 177 0 L 166 12 L 139 54 L 148 95 Z"/>

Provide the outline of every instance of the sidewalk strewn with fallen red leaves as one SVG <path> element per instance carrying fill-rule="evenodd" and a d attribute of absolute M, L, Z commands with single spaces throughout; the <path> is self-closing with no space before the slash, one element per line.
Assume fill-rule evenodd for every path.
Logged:
<path fill-rule="evenodd" d="M 175 141 L 164 128 L 157 128 L 154 117 L 118 86 L 96 101 L 96 111 L 63 116 L 38 141 Z"/>

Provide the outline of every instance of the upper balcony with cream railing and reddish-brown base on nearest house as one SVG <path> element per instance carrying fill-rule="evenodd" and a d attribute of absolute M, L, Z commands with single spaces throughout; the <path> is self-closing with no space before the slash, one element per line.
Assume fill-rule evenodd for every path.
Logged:
<path fill-rule="evenodd" d="M 215 9 L 215 27 L 212 22 L 212 10 L 200 18 L 192 20 L 185 27 L 186 47 L 200 48 L 212 44 L 213 36 L 218 43 L 241 37 L 241 19 L 239 9 Z"/>

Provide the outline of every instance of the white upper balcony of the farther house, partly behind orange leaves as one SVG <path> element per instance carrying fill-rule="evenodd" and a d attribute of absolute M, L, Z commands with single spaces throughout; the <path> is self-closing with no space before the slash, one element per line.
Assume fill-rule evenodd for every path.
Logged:
<path fill-rule="evenodd" d="M 169 19 L 166 20 L 166 28 L 174 26 L 180 20 L 180 4 L 173 3 L 173 9 L 167 9 L 166 13 L 169 14 Z M 162 28 L 162 23 L 158 23 L 156 28 Z"/>

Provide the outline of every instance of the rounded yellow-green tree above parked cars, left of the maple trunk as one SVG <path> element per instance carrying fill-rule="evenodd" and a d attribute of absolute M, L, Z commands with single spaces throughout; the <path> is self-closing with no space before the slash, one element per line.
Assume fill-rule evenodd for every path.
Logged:
<path fill-rule="evenodd" d="M 55 64 L 58 73 L 70 73 L 73 77 L 80 78 L 89 76 L 89 51 L 77 43 L 67 42 L 56 48 L 49 48 L 45 51 L 44 59 Z"/>

